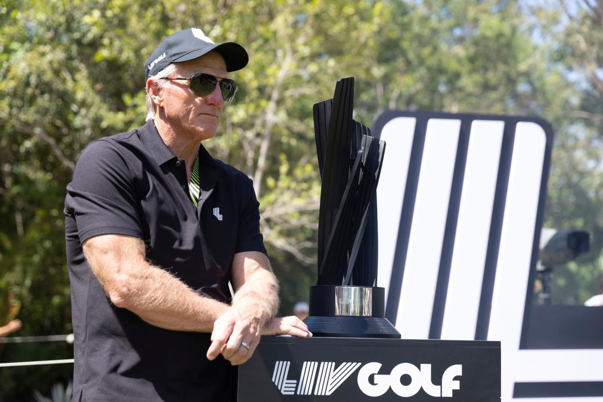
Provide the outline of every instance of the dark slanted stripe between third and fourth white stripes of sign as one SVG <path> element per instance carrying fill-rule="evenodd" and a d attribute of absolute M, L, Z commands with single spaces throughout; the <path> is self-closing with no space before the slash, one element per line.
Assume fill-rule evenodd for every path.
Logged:
<path fill-rule="evenodd" d="M 505 121 L 505 128 L 502 134 L 502 146 L 500 148 L 498 179 L 496 180 L 496 190 L 494 190 L 490 234 L 488 235 L 488 249 L 486 251 L 484 265 L 484 280 L 482 281 L 482 293 L 479 298 L 478 322 L 476 323 L 475 328 L 476 341 L 485 341 L 488 337 L 488 327 L 490 326 L 490 313 L 492 309 L 492 294 L 494 292 L 496 265 L 498 263 L 498 252 L 500 249 L 500 233 L 502 232 L 502 221 L 505 216 L 505 204 L 507 203 L 507 187 L 509 185 L 509 172 L 511 171 L 511 158 L 513 157 L 513 143 L 515 142 L 516 127 L 517 121 Z"/>

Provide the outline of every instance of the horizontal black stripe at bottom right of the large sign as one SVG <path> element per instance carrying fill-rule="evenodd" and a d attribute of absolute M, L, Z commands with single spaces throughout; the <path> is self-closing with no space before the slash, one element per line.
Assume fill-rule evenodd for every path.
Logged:
<path fill-rule="evenodd" d="M 603 381 L 515 383 L 513 398 L 603 397 Z"/>

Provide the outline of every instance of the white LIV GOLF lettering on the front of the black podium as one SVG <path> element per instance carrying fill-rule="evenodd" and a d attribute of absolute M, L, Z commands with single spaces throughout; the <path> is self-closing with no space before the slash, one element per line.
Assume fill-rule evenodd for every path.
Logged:
<path fill-rule="evenodd" d="M 331 395 L 360 365 L 346 362 L 335 368 L 334 362 L 321 362 L 320 366 L 318 362 L 304 362 L 299 380 L 289 380 L 291 362 L 279 361 L 274 363 L 272 381 L 283 395 L 312 395 L 313 387 L 314 395 Z M 400 363 L 390 374 L 378 374 L 381 366 L 381 363 L 371 362 L 358 371 L 358 388 L 369 397 L 380 397 L 390 388 L 400 397 L 412 397 L 421 388 L 432 397 L 452 397 L 453 390 L 461 389 L 460 382 L 454 379 L 463 374 L 463 366 L 459 364 L 444 371 L 441 386 L 431 381 L 431 364 L 421 364 L 417 368 L 411 363 Z M 411 377 L 408 385 L 402 384 L 403 375 Z"/>

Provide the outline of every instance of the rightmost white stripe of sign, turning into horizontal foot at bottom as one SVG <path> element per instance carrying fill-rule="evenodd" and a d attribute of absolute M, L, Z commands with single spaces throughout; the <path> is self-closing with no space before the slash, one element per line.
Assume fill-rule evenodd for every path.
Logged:
<path fill-rule="evenodd" d="M 516 382 L 603 381 L 603 350 L 519 350 L 546 136 L 531 122 L 517 124 L 507 205 L 500 238 L 488 339 L 501 342 L 502 400 Z M 587 401 L 603 398 L 518 398 Z"/>

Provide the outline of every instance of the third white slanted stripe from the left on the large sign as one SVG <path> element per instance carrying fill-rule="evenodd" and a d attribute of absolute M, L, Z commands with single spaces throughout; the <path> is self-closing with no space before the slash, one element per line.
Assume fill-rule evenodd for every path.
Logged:
<path fill-rule="evenodd" d="M 505 122 L 472 122 L 441 339 L 475 339 Z"/>

